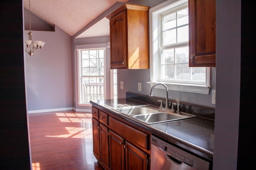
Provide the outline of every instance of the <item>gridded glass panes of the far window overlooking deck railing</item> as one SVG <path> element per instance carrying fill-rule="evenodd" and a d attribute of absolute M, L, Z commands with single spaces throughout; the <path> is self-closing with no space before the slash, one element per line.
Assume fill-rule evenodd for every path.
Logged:
<path fill-rule="evenodd" d="M 104 99 L 104 49 L 80 50 L 80 103 Z"/>

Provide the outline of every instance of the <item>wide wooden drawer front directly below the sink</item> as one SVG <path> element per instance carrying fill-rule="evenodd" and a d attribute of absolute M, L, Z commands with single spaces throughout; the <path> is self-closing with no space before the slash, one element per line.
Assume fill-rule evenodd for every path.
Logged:
<path fill-rule="evenodd" d="M 108 117 L 109 129 L 122 136 L 126 141 L 149 150 L 149 135 L 129 125 L 126 125 L 113 117 Z"/>

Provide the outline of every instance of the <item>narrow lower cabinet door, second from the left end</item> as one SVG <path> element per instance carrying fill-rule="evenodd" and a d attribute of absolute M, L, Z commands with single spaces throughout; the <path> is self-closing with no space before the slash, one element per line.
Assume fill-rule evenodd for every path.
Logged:
<path fill-rule="evenodd" d="M 108 128 L 100 123 L 100 163 L 105 168 L 109 167 L 108 160 Z"/>

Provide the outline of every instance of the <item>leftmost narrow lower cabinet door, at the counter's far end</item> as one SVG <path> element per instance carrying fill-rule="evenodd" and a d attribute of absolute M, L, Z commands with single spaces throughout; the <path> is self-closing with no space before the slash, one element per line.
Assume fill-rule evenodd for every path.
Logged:
<path fill-rule="evenodd" d="M 100 162 L 100 129 L 99 122 L 92 118 L 92 142 L 93 142 L 93 154 L 95 158 Z"/>

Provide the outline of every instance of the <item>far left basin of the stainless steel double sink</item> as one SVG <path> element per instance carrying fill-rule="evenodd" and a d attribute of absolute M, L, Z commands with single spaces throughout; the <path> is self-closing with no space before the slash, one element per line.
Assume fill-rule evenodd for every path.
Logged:
<path fill-rule="evenodd" d="M 139 115 L 139 114 L 146 114 L 146 113 L 156 113 L 158 112 L 158 109 L 153 108 L 150 105 L 143 105 L 143 106 L 130 106 L 130 107 L 121 107 L 114 109 L 116 111 L 119 111 L 121 113 L 127 114 L 127 115 Z"/>

